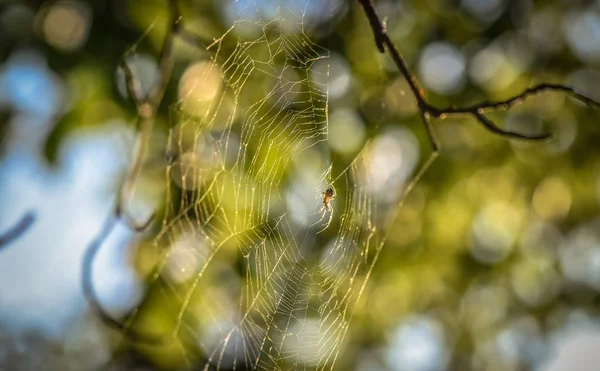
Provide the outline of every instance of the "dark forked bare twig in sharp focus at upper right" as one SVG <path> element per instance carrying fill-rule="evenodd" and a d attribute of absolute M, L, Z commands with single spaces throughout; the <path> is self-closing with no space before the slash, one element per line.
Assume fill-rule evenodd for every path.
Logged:
<path fill-rule="evenodd" d="M 504 136 L 511 139 L 521 139 L 521 140 L 545 140 L 551 137 L 550 134 L 539 134 L 539 135 L 528 135 L 517 133 L 513 131 L 508 131 L 499 128 L 496 126 L 489 118 L 484 116 L 484 112 L 486 110 L 506 110 L 509 109 L 527 99 L 530 96 L 539 94 L 544 91 L 558 91 L 567 93 L 574 99 L 581 101 L 582 103 L 600 108 L 600 102 L 587 97 L 581 93 L 576 92 L 573 88 L 560 85 L 560 84 L 548 84 L 543 83 L 537 86 L 531 87 L 521 94 L 513 96 L 509 99 L 499 102 L 482 102 L 476 105 L 467 106 L 467 107 L 446 107 L 446 108 L 438 108 L 429 103 L 425 94 L 423 93 L 423 89 L 419 86 L 417 79 L 414 74 L 409 70 L 404 58 L 396 48 L 396 45 L 392 42 L 392 40 L 387 35 L 385 26 L 377 12 L 375 11 L 375 6 L 373 4 L 373 0 L 358 0 L 358 2 L 362 5 L 365 15 L 369 19 L 369 24 L 371 25 L 371 29 L 373 30 L 373 36 L 375 37 L 375 43 L 380 52 L 384 53 L 385 48 L 387 48 L 388 54 L 392 57 L 392 60 L 396 64 L 398 71 L 404 76 L 410 90 L 417 100 L 417 104 L 419 106 L 419 115 L 425 124 L 425 128 L 427 129 L 427 133 L 429 135 L 429 139 L 431 141 L 431 145 L 433 147 L 433 151 L 437 152 L 439 150 L 439 144 L 431 127 L 431 123 L 429 122 L 429 117 L 439 118 L 441 120 L 448 118 L 451 115 L 469 115 L 476 119 L 480 124 L 483 125 L 484 128 L 492 132 L 493 134 Z M 384 48 L 385 46 L 385 48 Z"/>

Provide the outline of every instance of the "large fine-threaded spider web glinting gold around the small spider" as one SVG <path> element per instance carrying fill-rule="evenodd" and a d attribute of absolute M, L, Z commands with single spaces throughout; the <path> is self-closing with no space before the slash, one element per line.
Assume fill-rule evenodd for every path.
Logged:
<path fill-rule="evenodd" d="M 156 265 L 127 331 L 173 335 L 188 366 L 333 368 L 418 161 L 382 168 L 402 132 L 331 160 L 329 51 L 305 28 L 339 10 L 323 4 L 242 6 L 182 76 Z"/>

